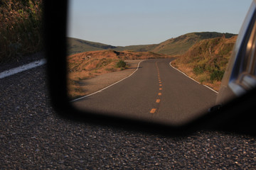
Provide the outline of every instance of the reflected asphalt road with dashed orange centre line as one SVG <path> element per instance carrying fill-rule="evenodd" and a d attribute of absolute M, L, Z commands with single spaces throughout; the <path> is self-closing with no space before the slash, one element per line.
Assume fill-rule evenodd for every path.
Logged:
<path fill-rule="evenodd" d="M 215 105 L 217 93 L 170 66 L 171 60 L 146 60 L 131 77 L 100 93 L 74 101 L 85 111 L 182 125 Z"/>

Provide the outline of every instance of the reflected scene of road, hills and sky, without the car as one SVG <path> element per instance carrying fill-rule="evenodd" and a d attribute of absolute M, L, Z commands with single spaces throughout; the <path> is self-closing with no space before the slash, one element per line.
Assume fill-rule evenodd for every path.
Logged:
<path fill-rule="evenodd" d="M 239 12 L 227 11 L 230 4 Z M 69 5 L 68 96 L 73 106 L 183 125 L 215 106 L 250 1 Z"/>

